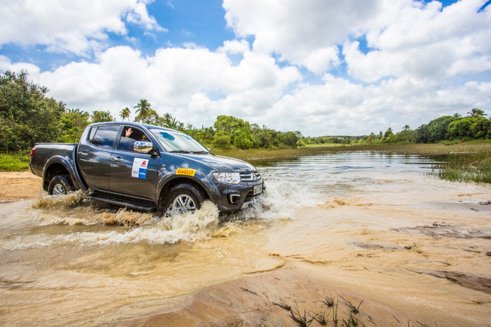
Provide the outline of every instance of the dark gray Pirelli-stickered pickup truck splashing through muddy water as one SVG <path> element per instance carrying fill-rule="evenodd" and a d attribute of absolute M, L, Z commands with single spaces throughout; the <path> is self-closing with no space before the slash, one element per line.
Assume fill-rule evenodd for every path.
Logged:
<path fill-rule="evenodd" d="M 185 133 L 130 122 L 91 124 L 79 144 L 38 143 L 29 167 L 50 195 L 91 190 L 91 199 L 160 215 L 207 199 L 235 212 L 265 190 L 247 162 L 214 155 Z"/>

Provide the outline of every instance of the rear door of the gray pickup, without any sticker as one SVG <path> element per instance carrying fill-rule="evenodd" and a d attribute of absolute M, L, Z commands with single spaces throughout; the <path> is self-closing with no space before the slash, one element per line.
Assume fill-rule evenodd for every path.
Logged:
<path fill-rule="evenodd" d="M 118 125 L 94 126 L 87 140 L 80 141 L 78 166 L 92 188 L 109 191 L 109 164 L 119 130 Z"/>

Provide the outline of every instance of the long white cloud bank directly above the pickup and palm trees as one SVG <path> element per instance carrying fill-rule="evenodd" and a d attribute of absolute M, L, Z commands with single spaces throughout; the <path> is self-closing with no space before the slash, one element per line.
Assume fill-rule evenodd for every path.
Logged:
<path fill-rule="evenodd" d="M 2 59 L 2 70 L 25 65 Z M 247 52 L 233 66 L 222 51 L 162 48 L 155 56 L 143 57 L 140 51 L 122 46 L 98 54 L 94 63 L 70 63 L 53 72 L 29 69 L 29 73 L 51 90 L 50 96 L 70 108 L 110 110 L 118 117 L 122 108 L 132 109 L 145 98 L 159 114 L 170 112 L 195 126 L 211 126 L 221 114 L 255 120 L 301 78 L 296 68 L 279 68 L 273 58 L 261 53 Z"/>

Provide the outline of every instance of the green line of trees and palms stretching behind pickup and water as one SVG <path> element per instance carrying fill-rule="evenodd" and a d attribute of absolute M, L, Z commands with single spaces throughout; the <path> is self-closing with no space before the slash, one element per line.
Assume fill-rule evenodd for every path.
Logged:
<path fill-rule="evenodd" d="M 92 114 L 48 98 L 48 89 L 28 80 L 25 71 L 6 71 L 0 74 L 0 152 L 31 149 L 36 142 L 78 142 L 83 130 L 93 122 L 114 121 L 109 111 Z M 296 148 L 315 144 L 375 144 L 428 143 L 445 140 L 491 139 L 491 120 L 480 109 L 472 109 L 468 116 L 443 116 L 423 124 L 415 130 L 408 125 L 394 133 L 364 136 L 304 137 L 298 131 L 281 132 L 250 124 L 241 118 L 221 115 L 214 126 L 196 128 L 173 118 L 169 113 L 160 116 L 146 99 L 133 107 L 134 121 L 173 128 L 185 132 L 203 145 L 221 150 Z M 128 119 L 131 109 L 120 111 L 121 120 Z"/>

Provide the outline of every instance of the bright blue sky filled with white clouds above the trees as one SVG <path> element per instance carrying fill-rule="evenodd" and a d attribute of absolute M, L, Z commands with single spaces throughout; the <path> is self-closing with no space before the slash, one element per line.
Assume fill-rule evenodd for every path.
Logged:
<path fill-rule="evenodd" d="M 486 0 L 0 0 L 0 17 L 0 73 L 118 120 L 142 98 L 304 136 L 491 115 Z"/>

